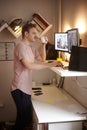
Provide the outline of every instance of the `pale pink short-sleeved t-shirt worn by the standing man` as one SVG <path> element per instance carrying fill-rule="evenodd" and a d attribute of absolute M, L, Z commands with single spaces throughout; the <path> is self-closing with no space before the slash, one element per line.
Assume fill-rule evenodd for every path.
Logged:
<path fill-rule="evenodd" d="M 22 59 L 28 58 L 31 62 L 39 56 L 38 51 L 32 46 L 19 43 L 14 51 L 14 78 L 11 90 L 19 89 L 26 94 L 31 95 L 32 90 L 32 70 L 25 68 Z"/>

